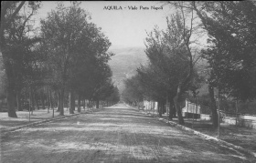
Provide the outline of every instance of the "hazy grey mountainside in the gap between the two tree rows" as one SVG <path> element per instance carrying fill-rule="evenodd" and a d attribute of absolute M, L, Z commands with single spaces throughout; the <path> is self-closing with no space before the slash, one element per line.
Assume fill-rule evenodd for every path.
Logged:
<path fill-rule="evenodd" d="M 144 47 L 112 47 L 110 50 L 115 56 L 109 61 L 112 68 L 112 80 L 123 91 L 123 79 L 134 76 L 136 69 L 147 63 Z"/>

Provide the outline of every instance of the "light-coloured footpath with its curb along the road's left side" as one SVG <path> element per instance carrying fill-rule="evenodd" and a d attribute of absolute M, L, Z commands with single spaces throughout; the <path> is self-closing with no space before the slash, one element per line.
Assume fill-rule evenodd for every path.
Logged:
<path fill-rule="evenodd" d="M 64 108 L 64 116 L 60 116 L 59 112 L 57 112 L 57 108 L 54 108 L 54 117 L 53 117 L 53 109 L 39 109 L 33 110 L 30 112 L 30 120 L 29 120 L 29 112 L 26 111 L 16 111 L 17 117 L 8 117 L 7 112 L 0 112 L 0 133 L 1 135 L 5 132 L 14 131 L 16 129 L 20 129 L 23 127 L 31 127 L 35 125 L 39 125 L 42 123 L 59 120 L 62 118 L 78 116 L 80 114 L 90 114 L 94 111 L 97 111 L 101 108 L 81 108 L 80 113 L 77 110 L 74 110 L 74 114 L 69 114 L 69 109 Z"/>

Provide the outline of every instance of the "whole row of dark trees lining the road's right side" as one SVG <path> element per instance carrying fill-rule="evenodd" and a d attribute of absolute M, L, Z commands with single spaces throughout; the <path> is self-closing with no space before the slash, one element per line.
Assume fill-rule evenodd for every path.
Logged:
<path fill-rule="evenodd" d="M 125 81 L 123 99 L 159 103 L 161 116 L 170 103 L 169 117 L 176 112 L 184 124 L 181 104 L 188 91 L 208 83 L 213 126 L 218 126 L 214 88 L 234 100 L 256 98 L 256 4 L 254 2 L 168 2 L 176 14 L 166 18 L 167 28 L 148 34 L 147 66 Z M 208 45 L 198 46 L 199 34 L 208 35 Z M 206 66 L 200 66 L 199 60 Z M 202 62 L 200 62 L 202 63 Z"/>

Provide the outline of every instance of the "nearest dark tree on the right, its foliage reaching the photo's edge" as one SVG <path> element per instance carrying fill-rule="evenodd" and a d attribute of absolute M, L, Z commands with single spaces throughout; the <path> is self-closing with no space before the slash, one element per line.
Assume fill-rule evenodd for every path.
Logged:
<path fill-rule="evenodd" d="M 191 3 L 208 31 L 208 90 L 217 127 L 214 87 L 240 100 L 256 97 L 256 5 L 248 2 Z"/>

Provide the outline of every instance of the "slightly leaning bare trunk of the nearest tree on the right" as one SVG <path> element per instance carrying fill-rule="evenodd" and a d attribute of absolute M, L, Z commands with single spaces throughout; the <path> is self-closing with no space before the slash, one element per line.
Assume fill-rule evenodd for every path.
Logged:
<path fill-rule="evenodd" d="M 218 127 L 218 113 L 217 113 L 216 101 L 214 98 L 214 88 L 211 86 L 211 84 L 208 85 L 208 94 L 210 98 L 212 126 Z"/>

